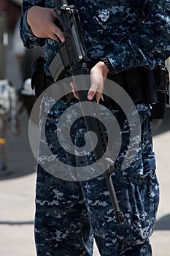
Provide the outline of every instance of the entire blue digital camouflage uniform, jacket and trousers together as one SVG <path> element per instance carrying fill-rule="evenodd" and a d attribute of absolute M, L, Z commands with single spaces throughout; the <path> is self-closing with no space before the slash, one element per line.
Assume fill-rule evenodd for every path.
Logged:
<path fill-rule="evenodd" d="M 26 23 L 28 9 L 33 5 L 44 6 L 43 2 L 23 1 L 20 31 L 26 47 L 46 45 L 45 72 L 49 76 L 48 66 L 58 51 L 58 42 L 34 37 Z M 80 10 L 90 58 L 107 56 L 115 72 L 138 66 L 152 68 L 169 57 L 169 1 L 84 0 L 72 1 L 72 4 Z M 55 4 L 45 1 L 45 7 L 54 8 Z M 45 96 L 42 101 L 40 128 L 45 127 L 47 143 L 53 154 L 58 156 L 62 148 L 55 143 L 54 132 L 61 113 L 74 102 L 58 101 L 44 121 L 43 113 L 48 100 Z M 93 237 L 102 256 L 152 255 L 149 238 L 155 224 L 159 188 L 152 151 L 150 105 L 139 102 L 136 109 L 141 121 L 141 141 L 136 159 L 121 170 L 129 137 L 128 124 L 124 121 L 117 168 L 112 175 L 124 225 L 116 225 L 104 176 L 80 182 L 62 180 L 43 170 L 39 158 L 35 217 L 37 255 L 92 255 Z M 111 110 L 116 115 L 116 110 Z M 81 134 L 78 132 L 74 138 L 79 144 L 86 130 L 84 121 L 77 122 L 74 129 L 81 130 Z M 45 141 L 40 140 L 40 157 L 43 146 Z M 69 158 L 67 154 L 64 157 L 69 165 L 80 165 L 76 157 Z"/>

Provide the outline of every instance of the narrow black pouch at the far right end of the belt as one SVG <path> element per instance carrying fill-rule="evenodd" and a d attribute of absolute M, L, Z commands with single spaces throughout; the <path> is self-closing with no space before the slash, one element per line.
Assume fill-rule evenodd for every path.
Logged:
<path fill-rule="evenodd" d="M 153 119 L 163 119 L 166 113 L 166 105 L 169 105 L 169 72 L 165 65 L 159 64 L 154 69 L 157 83 L 158 102 L 152 104 Z"/>

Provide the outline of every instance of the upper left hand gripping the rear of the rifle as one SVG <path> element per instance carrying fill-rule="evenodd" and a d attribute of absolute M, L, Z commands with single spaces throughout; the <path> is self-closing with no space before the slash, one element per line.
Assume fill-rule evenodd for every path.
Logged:
<path fill-rule="evenodd" d="M 27 22 L 31 27 L 31 31 L 36 37 L 51 38 L 53 40 L 61 40 L 65 42 L 63 33 L 58 26 L 55 26 L 56 14 L 53 9 L 34 6 L 28 10 Z"/>

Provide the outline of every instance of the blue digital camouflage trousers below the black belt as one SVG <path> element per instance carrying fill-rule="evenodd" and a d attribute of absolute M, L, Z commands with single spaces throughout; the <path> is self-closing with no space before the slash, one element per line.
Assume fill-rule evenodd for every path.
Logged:
<path fill-rule="evenodd" d="M 48 117 L 48 143 L 54 143 L 53 132 L 58 113 L 66 107 L 62 103 L 55 108 L 55 118 Z M 149 238 L 155 224 L 159 188 L 152 152 L 150 111 L 142 111 L 141 108 L 139 106 L 142 124 L 140 150 L 136 159 L 124 171 L 120 170 L 120 152 L 116 161 L 117 169 L 112 175 L 120 209 L 123 211 L 124 225 L 116 224 L 104 176 L 88 181 L 66 181 L 38 165 L 35 217 L 37 255 L 93 255 L 93 238 L 101 256 L 152 255 Z M 83 126 L 85 128 L 82 120 L 77 123 L 81 131 Z M 127 126 L 123 124 L 121 151 L 127 146 L 126 129 Z M 77 136 L 77 140 L 79 138 L 81 136 Z M 54 154 L 59 154 L 57 151 Z M 72 162 L 74 165 L 76 159 Z"/>

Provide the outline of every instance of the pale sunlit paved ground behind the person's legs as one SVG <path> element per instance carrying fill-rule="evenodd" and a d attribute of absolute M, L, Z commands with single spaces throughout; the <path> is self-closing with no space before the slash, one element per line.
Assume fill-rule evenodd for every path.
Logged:
<path fill-rule="evenodd" d="M 11 61 L 11 60 L 10 60 Z M 11 63 L 11 62 L 10 62 Z M 9 78 L 18 79 L 15 65 L 9 65 Z M 14 75 L 14 76 L 13 76 Z M 8 135 L 8 167 L 11 173 L 0 178 L 0 255 L 35 256 L 34 191 L 36 161 L 28 143 L 28 116 L 20 115 L 20 135 Z M 170 110 L 163 123 L 153 125 L 154 148 L 158 162 L 161 203 L 155 232 L 152 235 L 153 256 L 169 256 L 170 242 Z M 98 256 L 95 247 L 94 256 Z M 137 256 L 137 255 L 136 255 Z"/>

